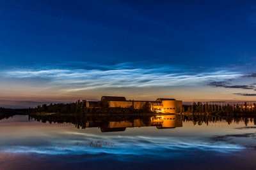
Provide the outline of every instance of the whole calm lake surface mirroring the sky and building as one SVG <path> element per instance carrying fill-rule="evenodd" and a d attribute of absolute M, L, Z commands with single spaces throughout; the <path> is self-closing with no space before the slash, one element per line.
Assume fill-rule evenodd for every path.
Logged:
<path fill-rule="evenodd" d="M 255 122 L 15 115 L 0 120 L 0 169 L 256 169 Z"/>

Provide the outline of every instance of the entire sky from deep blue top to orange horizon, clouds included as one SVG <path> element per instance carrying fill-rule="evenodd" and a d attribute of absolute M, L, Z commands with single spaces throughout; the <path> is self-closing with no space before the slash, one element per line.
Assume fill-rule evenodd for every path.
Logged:
<path fill-rule="evenodd" d="M 0 106 L 256 100 L 255 1 L 0 1 Z"/>

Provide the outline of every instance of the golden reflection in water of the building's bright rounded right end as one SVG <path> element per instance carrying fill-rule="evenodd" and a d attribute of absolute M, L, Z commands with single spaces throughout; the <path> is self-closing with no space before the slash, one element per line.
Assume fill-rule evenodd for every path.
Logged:
<path fill-rule="evenodd" d="M 157 129 L 182 127 L 182 117 L 177 114 L 156 116 L 151 118 L 151 124 Z"/>

